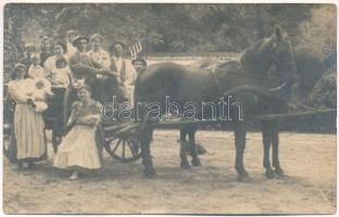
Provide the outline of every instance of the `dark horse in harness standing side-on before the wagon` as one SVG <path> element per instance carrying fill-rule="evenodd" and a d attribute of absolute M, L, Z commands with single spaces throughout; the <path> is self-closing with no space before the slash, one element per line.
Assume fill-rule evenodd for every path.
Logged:
<path fill-rule="evenodd" d="M 287 92 L 292 82 L 296 64 L 292 47 L 287 35 L 280 27 L 269 37 L 256 42 L 241 56 L 240 62 L 231 61 L 219 66 L 214 73 L 208 69 L 185 68 L 174 63 L 161 63 L 149 66 L 137 78 L 135 99 L 137 102 L 159 102 L 165 104 L 166 97 L 183 105 L 187 102 L 217 102 L 225 92 L 231 93 L 234 101 L 241 104 L 243 120 L 236 117 L 239 110 L 230 111 L 236 140 L 235 167 L 238 178 L 242 180 L 248 177 L 243 166 L 243 151 L 246 146 L 246 125 L 248 117 L 256 114 L 285 112 L 282 101 L 262 94 L 260 88 L 277 89 Z M 277 88 L 278 87 L 278 88 Z M 237 91 L 233 91 L 236 90 Z M 168 111 L 167 111 L 168 112 Z M 179 111 L 183 112 L 183 111 Z M 152 177 L 155 170 L 152 165 L 150 143 L 152 140 L 152 128 L 147 125 L 147 114 L 143 113 L 146 122 L 142 128 L 141 149 L 145 175 Z M 199 115 L 198 115 L 199 117 Z M 193 165 L 199 165 L 199 158 L 194 153 L 196 128 L 184 128 L 190 136 L 190 146 Z M 278 131 L 273 120 L 263 122 L 264 136 L 264 166 L 272 173 L 269 162 L 269 146 L 273 144 L 273 165 L 277 173 L 282 173 L 278 162 Z M 184 155 L 183 155 L 184 157 Z M 187 163 L 181 157 L 181 165 Z"/>

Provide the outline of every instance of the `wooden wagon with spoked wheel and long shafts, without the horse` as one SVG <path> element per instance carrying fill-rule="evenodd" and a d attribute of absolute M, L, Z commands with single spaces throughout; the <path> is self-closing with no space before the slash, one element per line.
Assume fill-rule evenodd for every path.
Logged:
<path fill-rule="evenodd" d="M 253 88 L 253 87 L 252 87 Z M 227 94 L 242 91 L 243 89 L 251 89 L 250 87 L 237 87 L 227 92 Z M 43 113 L 43 120 L 47 130 L 51 130 L 51 142 L 54 152 L 58 150 L 58 145 L 62 141 L 66 129 L 66 122 L 71 114 L 71 105 L 76 99 L 75 88 L 60 88 L 52 87 L 52 91 L 55 97 L 50 99 L 48 104 L 49 108 Z M 267 94 L 273 97 L 274 93 L 265 89 L 256 88 L 256 91 L 261 91 L 261 94 Z M 275 95 L 279 98 L 278 95 Z M 9 146 L 15 142 L 15 136 L 13 131 L 13 112 L 15 103 L 11 100 L 8 93 L 7 86 L 4 86 L 3 98 L 3 153 L 9 156 Z M 313 115 L 319 113 L 334 113 L 336 110 L 322 110 L 322 111 L 306 111 L 302 113 L 282 113 L 282 114 L 263 114 L 251 116 L 252 120 L 272 120 L 285 117 L 294 117 L 303 115 Z M 171 128 L 171 129 L 184 129 L 184 128 L 197 128 L 203 125 L 223 124 L 222 119 L 204 119 L 204 120 L 183 120 L 175 119 L 171 122 L 112 122 L 102 119 L 101 125 L 97 130 L 98 142 L 104 148 L 104 150 L 113 158 L 123 162 L 131 163 L 138 161 L 142 156 L 141 139 L 145 128 Z"/>

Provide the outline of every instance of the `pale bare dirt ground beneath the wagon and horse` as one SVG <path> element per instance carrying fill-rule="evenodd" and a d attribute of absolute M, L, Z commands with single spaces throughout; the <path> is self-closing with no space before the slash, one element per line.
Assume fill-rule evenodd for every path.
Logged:
<path fill-rule="evenodd" d="M 177 130 L 158 130 L 152 143 L 158 176 L 141 176 L 141 161 L 104 157 L 104 174 L 70 181 L 52 169 L 53 154 L 35 170 L 18 171 L 4 159 L 5 214 L 334 214 L 336 135 L 280 135 L 286 176 L 266 179 L 259 132 L 248 135 L 244 165 L 251 179 L 238 182 L 231 132 L 199 131 L 208 154 L 202 167 L 179 168 Z"/>

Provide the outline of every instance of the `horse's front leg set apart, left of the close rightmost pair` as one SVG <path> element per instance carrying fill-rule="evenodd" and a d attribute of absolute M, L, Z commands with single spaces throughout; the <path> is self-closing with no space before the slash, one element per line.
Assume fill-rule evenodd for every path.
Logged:
<path fill-rule="evenodd" d="M 246 148 L 246 127 L 244 124 L 237 124 L 235 127 L 235 144 L 236 144 L 236 164 L 235 168 L 238 173 L 238 180 L 243 181 L 249 178 L 249 174 L 243 167 L 243 151 Z"/>

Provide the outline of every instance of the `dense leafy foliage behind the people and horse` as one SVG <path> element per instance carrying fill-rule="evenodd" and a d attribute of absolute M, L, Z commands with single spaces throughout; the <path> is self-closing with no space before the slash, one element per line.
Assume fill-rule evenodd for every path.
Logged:
<path fill-rule="evenodd" d="M 293 98 L 336 107 L 336 7 L 334 4 L 7 4 L 4 77 L 40 37 L 64 39 L 68 29 L 99 33 L 105 46 L 147 39 L 148 52 L 242 52 L 285 28 L 296 50 L 299 73 Z"/>

